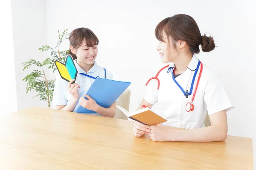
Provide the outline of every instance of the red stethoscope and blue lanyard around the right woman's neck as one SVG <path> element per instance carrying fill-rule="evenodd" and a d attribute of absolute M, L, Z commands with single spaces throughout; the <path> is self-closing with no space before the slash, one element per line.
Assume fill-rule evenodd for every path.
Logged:
<path fill-rule="evenodd" d="M 145 87 L 148 85 L 148 83 L 152 80 L 152 79 L 156 79 L 157 80 L 157 93 L 158 93 L 158 90 L 159 90 L 159 87 L 160 87 L 160 80 L 158 79 L 158 75 L 160 74 L 161 71 L 163 71 L 163 69 L 168 68 L 168 71 L 167 73 L 169 73 L 170 71 L 172 71 L 172 79 L 173 81 L 177 84 L 177 86 L 180 88 L 180 90 L 183 92 L 184 96 L 186 96 L 186 98 L 188 98 L 188 96 L 190 96 L 192 94 L 192 91 L 193 91 L 193 86 L 194 86 L 194 82 L 195 82 L 195 77 L 196 77 L 196 74 L 199 70 L 199 66 L 201 65 L 201 68 L 200 68 L 200 72 L 199 72 L 199 75 L 198 75 L 198 81 L 196 83 L 196 86 L 195 86 L 195 92 L 192 96 L 192 99 L 191 99 L 191 102 L 188 102 L 186 104 L 186 111 L 189 112 L 189 111 L 193 111 L 195 109 L 195 106 L 193 104 L 194 102 L 194 99 L 195 99 L 195 94 L 196 94 L 196 91 L 197 91 L 197 88 L 198 88 L 198 84 L 200 82 L 200 79 L 201 79 L 201 74 L 202 74 L 202 71 L 203 71 L 203 64 L 202 62 L 200 62 L 200 60 L 198 60 L 198 65 L 197 65 L 197 68 L 195 69 L 195 74 L 194 74 L 194 77 L 192 79 L 192 82 L 191 82 L 191 86 L 190 86 L 190 91 L 186 90 L 184 91 L 183 88 L 180 86 L 180 84 L 176 81 L 175 77 L 174 77 L 174 71 L 175 71 L 175 68 L 174 67 L 169 67 L 170 65 L 166 65 L 165 67 L 161 68 L 160 71 L 157 72 L 156 76 L 155 77 L 152 77 L 150 79 L 148 79 Z M 143 91 L 145 89 L 145 87 L 143 88 Z M 143 93 L 143 92 L 142 92 Z M 142 95 L 142 93 L 140 94 L 140 96 Z M 156 101 L 156 97 L 157 95 L 155 96 L 155 100 L 154 102 Z M 139 105 L 140 105 L 140 100 L 139 100 Z M 154 105 L 154 103 L 151 105 L 150 108 L 152 108 Z M 142 106 L 143 108 L 146 108 L 147 106 L 146 105 L 140 105 Z"/>

